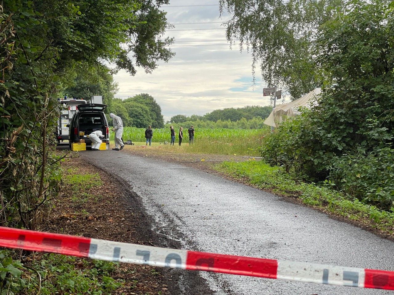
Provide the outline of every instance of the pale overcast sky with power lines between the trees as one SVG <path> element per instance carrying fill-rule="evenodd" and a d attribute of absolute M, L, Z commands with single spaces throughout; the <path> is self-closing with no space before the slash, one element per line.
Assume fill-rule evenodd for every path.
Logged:
<path fill-rule="evenodd" d="M 238 46 L 230 50 L 221 26 L 229 16 L 219 18 L 217 0 L 170 3 L 162 8 L 175 25 L 167 31 L 169 37 L 175 37 L 171 46 L 175 57 L 168 63 L 160 62 L 152 74 L 141 68 L 134 77 L 120 71 L 114 76 L 119 83 L 116 97 L 147 93 L 162 107 L 165 121 L 177 114 L 204 115 L 227 107 L 269 105 L 269 96 L 262 95 L 266 85 L 258 69 L 253 87 L 251 55 L 241 53 Z"/>

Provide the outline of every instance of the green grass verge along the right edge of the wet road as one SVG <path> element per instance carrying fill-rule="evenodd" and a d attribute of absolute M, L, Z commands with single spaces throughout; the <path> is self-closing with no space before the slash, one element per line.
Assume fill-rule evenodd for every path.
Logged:
<path fill-rule="evenodd" d="M 379 230 L 381 234 L 393 237 L 394 213 L 365 205 L 358 199 L 346 196 L 327 187 L 314 183 L 297 182 L 279 168 L 251 159 L 246 162 L 223 162 L 215 169 L 232 177 L 242 179 L 256 188 L 269 190 L 277 195 L 294 197 L 305 205 L 362 223 L 365 227 Z"/>

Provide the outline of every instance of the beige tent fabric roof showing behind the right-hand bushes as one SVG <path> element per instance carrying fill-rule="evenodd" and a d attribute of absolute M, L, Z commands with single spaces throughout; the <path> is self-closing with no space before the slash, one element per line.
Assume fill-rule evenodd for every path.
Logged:
<path fill-rule="evenodd" d="M 282 105 L 277 105 L 269 114 L 268 118 L 264 121 L 264 124 L 279 127 L 279 124 L 286 120 L 286 118 L 294 117 L 300 114 L 297 111 L 298 107 L 308 107 L 310 105 L 310 101 L 315 98 L 316 95 L 320 94 L 321 89 L 316 88 L 305 94 L 303 97 L 294 100 L 290 103 L 285 103 Z"/>

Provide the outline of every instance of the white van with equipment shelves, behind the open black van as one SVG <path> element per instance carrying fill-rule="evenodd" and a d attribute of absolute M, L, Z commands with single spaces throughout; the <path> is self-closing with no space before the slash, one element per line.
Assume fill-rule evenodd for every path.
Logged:
<path fill-rule="evenodd" d="M 56 126 L 56 139 L 58 143 L 69 139 L 69 124 L 74 114 L 78 111 L 78 105 L 86 104 L 86 100 L 59 99 L 60 116 Z"/>

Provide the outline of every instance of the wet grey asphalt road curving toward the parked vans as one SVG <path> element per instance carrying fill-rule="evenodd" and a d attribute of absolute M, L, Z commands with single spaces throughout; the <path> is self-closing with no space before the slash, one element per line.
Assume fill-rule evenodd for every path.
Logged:
<path fill-rule="evenodd" d="M 160 160 L 112 150 L 81 155 L 81 160 L 123 179 L 155 220 L 152 229 L 184 250 L 394 270 L 394 242 L 316 210 Z M 211 290 L 204 294 L 393 294 L 207 272 L 199 275 Z"/>

